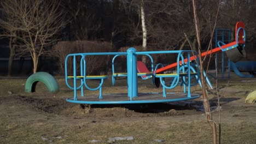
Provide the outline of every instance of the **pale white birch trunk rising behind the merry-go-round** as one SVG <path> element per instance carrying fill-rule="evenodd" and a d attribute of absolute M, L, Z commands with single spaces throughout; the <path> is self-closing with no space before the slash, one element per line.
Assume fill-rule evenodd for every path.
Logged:
<path fill-rule="evenodd" d="M 147 51 L 147 27 L 145 22 L 144 2 L 141 1 L 141 26 L 142 26 L 142 50 Z M 146 56 L 142 56 L 142 62 L 146 63 Z"/>

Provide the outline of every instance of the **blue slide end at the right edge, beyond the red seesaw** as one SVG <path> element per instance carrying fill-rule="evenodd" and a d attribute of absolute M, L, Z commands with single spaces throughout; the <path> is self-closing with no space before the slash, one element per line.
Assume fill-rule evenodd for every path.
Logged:
<path fill-rule="evenodd" d="M 256 61 L 230 62 L 230 67 L 240 77 L 254 77 L 252 74 L 242 74 L 241 71 L 253 73 L 256 71 Z"/>

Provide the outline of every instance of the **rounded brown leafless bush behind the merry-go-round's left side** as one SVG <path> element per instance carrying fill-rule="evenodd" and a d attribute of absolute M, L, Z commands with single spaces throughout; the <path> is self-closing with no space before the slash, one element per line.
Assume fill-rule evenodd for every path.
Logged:
<path fill-rule="evenodd" d="M 53 46 L 53 56 L 57 57 L 57 65 L 61 74 L 65 73 L 65 59 L 70 53 L 86 52 L 110 52 L 112 45 L 108 42 L 100 41 L 60 41 Z M 80 74 L 80 58 L 77 58 L 77 74 Z M 86 56 L 86 75 L 106 74 L 110 68 L 109 56 Z M 68 73 L 73 71 L 73 59 L 68 59 Z"/>

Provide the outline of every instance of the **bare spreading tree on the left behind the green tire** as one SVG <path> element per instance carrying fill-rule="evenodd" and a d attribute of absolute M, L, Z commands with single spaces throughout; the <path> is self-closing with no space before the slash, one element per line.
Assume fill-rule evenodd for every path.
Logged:
<path fill-rule="evenodd" d="M 39 57 L 48 53 L 46 48 L 56 43 L 57 35 L 66 25 L 60 2 L 3 0 L 2 7 L 10 19 L 1 20 L 3 28 L 9 32 L 6 36 L 16 39 L 19 55 L 31 56 L 33 73 L 36 73 Z"/>

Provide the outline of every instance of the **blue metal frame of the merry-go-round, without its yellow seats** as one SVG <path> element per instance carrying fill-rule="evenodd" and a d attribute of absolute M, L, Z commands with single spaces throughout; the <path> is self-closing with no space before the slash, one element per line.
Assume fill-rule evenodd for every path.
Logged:
<path fill-rule="evenodd" d="M 127 50 L 127 52 L 98 52 L 98 53 L 74 53 L 70 54 L 66 57 L 65 61 L 65 77 L 66 77 L 66 83 L 67 86 L 74 91 L 74 97 L 73 98 L 68 98 L 66 99 L 70 103 L 79 103 L 79 104 L 135 104 L 135 103 L 164 103 L 164 102 L 170 102 L 170 101 L 181 101 L 181 100 L 190 100 L 190 99 L 196 99 L 199 98 L 199 94 L 193 94 L 193 97 L 191 97 L 190 94 L 190 70 L 188 70 L 188 74 L 184 75 L 185 73 L 185 67 L 184 65 L 187 65 L 188 69 L 190 69 L 190 61 L 184 62 L 183 58 L 183 53 L 188 53 L 188 57 L 190 57 L 190 52 L 193 52 L 194 55 L 197 55 L 195 51 L 188 51 L 188 50 L 181 50 L 181 51 L 145 51 L 145 52 L 137 52 L 135 48 L 131 47 L 130 49 Z M 165 99 L 154 99 L 154 100 L 136 100 L 135 98 L 138 97 L 140 93 L 138 93 L 138 83 L 137 83 L 137 76 L 141 76 L 142 74 L 137 73 L 137 55 L 147 55 L 151 57 L 151 54 L 160 54 L 160 53 L 176 53 L 178 54 L 177 57 L 177 62 L 181 62 L 180 64 L 177 65 L 177 74 L 175 77 L 177 77 L 176 83 L 179 82 L 179 77 L 182 77 L 181 81 L 184 79 L 183 77 L 188 77 L 188 82 L 183 82 L 184 87 L 187 87 L 188 90 L 184 90 L 184 94 L 187 95 L 185 98 L 172 98 L 172 97 L 166 97 L 166 94 L 173 94 L 173 93 L 166 93 L 165 90 L 163 90 L 163 93 L 155 93 L 155 94 L 162 94 L 162 97 Z M 88 76 L 86 75 L 86 61 L 85 57 L 86 56 L 100 56 L 100 55 L 114 55 L 114 58 L 112 59 L 112 64 L 114 63 L 114 59 L 120 55 L 126 55 L 127 56 L 127 97 L 129 100 L 121 100 L 121 101 L 113 101 L 109 100 L 106 101 L 104 100 L 104 94 L 102 94 L 102 85 L 103 85 L 103 80 L 107 79 L 107 76 Z M 77 57 L 80 58 L 80 76 L 77 76 Z M 68 71 L 67 71 L 67 62 L 69 58 L 73 58 L 73 76 L 68 76 Z M 151 58 L 150 58 L 151 59 Z M 198 58 L 197 58 L 198 59 Z M 153 59 L 152 59 L 153 63 Z M 113 65 L 112 65 L 113 68 Z M 182 70 L 181 70 L 182 69 Z M 180 74 L 183 73 L 183 74 Z M 197 74 L 199 74 L 199 71 L 197 71 Z M 156 77 L 161 77 L 160 79 L 164 77 L 169 77 L 169 76 L 159 76 L 158 74 L 155 74 Z M 72 87 L 68 83 L 68 79 L 73 79 L 74 86 Z M 100 79 L 100 85 L 96 88 L 90 88 L 86 84 L 86 80 L 88 79 Z M 77 86 L 77 80 L 80 80 L 81 84 Z M 162 83 L 164 84 L 164 83 Z M 176 84 L 177 85 L 177 84 Z M 83 86 L 85 86 L 87 89 L 90 91 L 96 91 L 99 90 L 100 94 L 98 97 L 98 100 L 96 101 L 89 101 L 89 100 L 82 100 L 80 98 L 84 96 L 84 91 L 83 91 Z M 164 87 L 165 84 L 163 85 Z M 175 86 L 172 86 L 174 88 Z M 78 98 L 77 96 L 77 91 L 78 89 L 81 90 L 81 97 Z M 168 87 L 170 89 L 170 87 Z M 186 89 L 186 88 L 184 88 Z M 150 94 L 150 93 L 149 93 Z M 151 93 L 152 94 L 152 93 Z M 184 95 L 183 94 L 183 95 Z M 105 94 L 106 95 L 106 94 Z"/>

